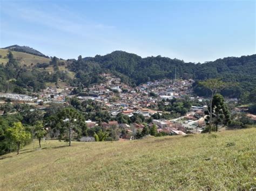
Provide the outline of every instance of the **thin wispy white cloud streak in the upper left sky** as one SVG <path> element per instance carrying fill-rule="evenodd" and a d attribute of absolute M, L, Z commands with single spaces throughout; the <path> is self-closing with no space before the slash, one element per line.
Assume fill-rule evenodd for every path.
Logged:
<path fill-rule="evenodd" d="M 86 19 L 85 16 L 79 16 L 62 6 L 54 4 L 53 8 L 56 10 L 55 12 L 9 3 L 8 9 L 3 9 L 2 11 L 9 17 L 23 19 L 25 22 L 47 26 L 61 32 L 78 34 L 82 37 L 93 38 L 93 34 L 99 32 L 98 30 L 115 29 L 114 26 L 93 22 Z"/>

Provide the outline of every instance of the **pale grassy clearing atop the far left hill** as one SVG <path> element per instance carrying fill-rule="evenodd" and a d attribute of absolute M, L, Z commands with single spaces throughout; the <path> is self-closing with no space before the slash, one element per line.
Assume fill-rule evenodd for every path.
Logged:
<path fill-rule="evenodd" d="M 27 65 L 30 66 L 31 63 L 33 63 L 34 65 L 36 63 L 49 63 L 50 59 L 48 58 L 44 58 L 42 56 L 36 56 L 33 54 L 27 54 L 24 52 L 16 52 L 16 51 L 11 51 L 12 54 L 14 54 L 14 58 L 18 60 L 19 63 L 21 63 L 21 65 Z M 2 55 L 2 58 L 0 58 L 0 63 L 7 63 L 8 59 L 5 58 L 8 54 L 8 50 L 7 49 L 0 49 L 0 55 Z"/>

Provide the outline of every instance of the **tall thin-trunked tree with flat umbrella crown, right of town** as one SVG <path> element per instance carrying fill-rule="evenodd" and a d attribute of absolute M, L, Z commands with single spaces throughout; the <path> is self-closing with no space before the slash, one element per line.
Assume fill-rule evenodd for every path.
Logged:
<path fill-rule="evenodd" d="M 209 125 L 209 133 L 211 133 L 212 131 L 212 100 L 213 100 L 213 96 L 215 94 L 217 94 L 218 91 L 220 91 L 221 89 L 224 89 L 228 86 L 230 86 L 229 83 L 223 82 L 220 79 L 208 79 L 205 81 L 200 82 L 201 86 L 204 86 L 205 88 L 209 89 L 211 91 L 211 98 L 210 98 L 210 109 L 208 109 L 208 113 L 209 113 L 209 119 L 208 119 L 208 125 Z"/>

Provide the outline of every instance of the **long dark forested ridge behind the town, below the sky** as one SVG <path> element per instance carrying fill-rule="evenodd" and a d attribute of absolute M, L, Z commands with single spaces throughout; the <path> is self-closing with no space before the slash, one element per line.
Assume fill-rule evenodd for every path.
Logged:
<path fill-rule="evenodd" d="M 134 85 L 165 77 L 173 79 L 176 69 L 177 78 L 205 80 L 220 77 L 224 81 L 238 82 L 239 86 L 223 91 L 224 95 L 231 97 L 239 97 L 242 91 L 251 91 L 256 86 L 256 54 L 195 64 L 161 56 L 142 58 L 136 54 L 114 51 L 104 56 L 78 59 L 70 65 L 70 69 L 78 74 L 82 83 L 97 82 L 97 77 L 92 74 L 107 71 Z M 200 95 L 206 92 L 197 83 L 195 87 L 196 93 Z"/>

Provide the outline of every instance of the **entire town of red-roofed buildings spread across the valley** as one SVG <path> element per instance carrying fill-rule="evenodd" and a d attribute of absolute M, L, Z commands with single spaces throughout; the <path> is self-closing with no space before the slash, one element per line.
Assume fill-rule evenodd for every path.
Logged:
<path fill-rule="evenodd" d="M 19 95 L 11 93 L 1 93 L 0 97 L 6 102 L 26 103 L 33 105 L 38 110 L 47 110 L 51 103 L 69 105 L 68 100 L 76 98 L 79 102 L 90 100 L 95 102 L 98 107 L 104 108 L 111 116 L 110 121 L 93 121 L 87 118 L 85 123 L 87 128 L 100 126 L 104 129 L 121 128 L 125 133 L 119 132 L 118 137 L 124 140 L 136 138 L 136 133 L 142 131 L 146 123 L 122 123 L 116 121 L 118 114 L 131 118 L 140 115 L 145 118 L 149 127 L 155 125 L 158 133 L 165 135 L 186 135 L 187 133 L 201 133 L 206 126 L 205 118 L 207 111 L 207 99 L 203 97 L 193 97 L 193 80 L 170 80 L 164 79 L 154 82 L 140 84 L 137 87 L 130 87 L 123 83 L 119 77 L 104 73 L 102 77 L 105 83 L 96 84 L 89 88 L 79 87 L 52 87 L 49 86 L 37 95 Z M 76 91 L 77 94 L 74 94 Z M 78 91 L 78 92 L 77 92 Z M 196 105 L 190 105 L 189 109 L 178 116 L 165 117 L 171 111 L 159 110 L 158 103 L 169 105 L 171 100 L 189 100 Z M 5 104 L 5 101 L 0 104 Z M 230 100 L 235 102 L 237 100 Z M 4 114 L 2 107 L 0 114 Z M 235 108 L 234 111 L 240 112 L 242 109 Z M 9 111 L 11 114 L 12 111 Z M 155 117 L 158 116 L 158 117 Z M 160 116 L 160 117 L 159 117 Z M 153 118 L 152 118 L 153 117 Z M 256 116 L 248 114 L 252 121 L 256 121 Z M 151 120 L 147 120 L 150 119 Z M 80 140 L 91 140 L 85 137 Z"/>

